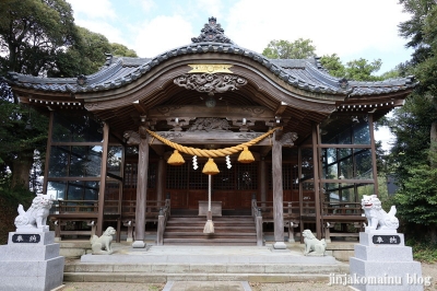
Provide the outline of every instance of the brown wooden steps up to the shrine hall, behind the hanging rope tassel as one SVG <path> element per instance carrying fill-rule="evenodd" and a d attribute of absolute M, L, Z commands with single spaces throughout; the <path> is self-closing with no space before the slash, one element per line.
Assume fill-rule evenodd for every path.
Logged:
<path fill-rule="evenodd" d="M 203 233 L 205 217 L 174 217 L 167 221 L 164 245 L 257 245 L 257 231 L 250 216 L 214 217 L 214 233 Z"/>

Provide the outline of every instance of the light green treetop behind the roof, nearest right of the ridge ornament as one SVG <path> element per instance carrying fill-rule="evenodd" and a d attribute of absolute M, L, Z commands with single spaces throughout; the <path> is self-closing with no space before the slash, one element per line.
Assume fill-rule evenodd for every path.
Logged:
<path fill-rule="evenodd" d="M 271 40 L 262 55 L 269 59 L 306 59 L 315 56 L 316 47 L 312 40 L 299 38 L 293 43 L 288 40 Z"/>

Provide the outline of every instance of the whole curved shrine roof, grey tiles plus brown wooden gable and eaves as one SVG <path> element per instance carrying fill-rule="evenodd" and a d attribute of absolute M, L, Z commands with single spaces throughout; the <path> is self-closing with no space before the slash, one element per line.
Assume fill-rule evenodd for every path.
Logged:
<path fill-rule="evenodd" d="M 173 83 L 174 78 L 188 72 L 187 65 L 229 63 L 236 74 L 250 81 L 250 85 L 234 91 L 235 96 L 241 97 L 238 104 L 281 110 L 305 121 L 307 127 L 334 112 L 358 114 L 377 107 L 379 114 L 385 114 L 402 104 L 416 85 L 413 77 L 381 82 L 346 81 L 330 75 L 317 58 L 268 59 L 232 42 L 214 18 L 209 21 L 191 44 L 153 58 L 109 56 L 98 72 L 86 77 L 36 78 L 11 72 L 9 82 L 24 96 L 23 102 L 61 107 L 72 102 L 73 106 L 98 113 L 103 120 L 114 118 L 118 123 L 119 116 L 133 114 L 133 102 L 139 102 L 137 107 L 145 112 L 160 104 L 182 102 L 182 97 L 199 98 L 196 92 L 186 93 Z M 251 101 L 244 101 L 243 95 Z M 235 96 L 232 98 L 237 100 Z"/>

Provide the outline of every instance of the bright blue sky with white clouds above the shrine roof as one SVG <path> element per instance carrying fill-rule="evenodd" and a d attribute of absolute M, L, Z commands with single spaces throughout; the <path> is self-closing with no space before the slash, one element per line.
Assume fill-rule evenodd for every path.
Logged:
<path fill-rule="evenodd" d="M 311 39 L 318 56 L 343 63 L 381 59 L 377 74 L 410 59 L 398 25 L 410 19 L 398 0 L 67 0 L 75 24 L 153 58 L 188 45 L 210 16 L 238 46 L 262 53 L 273 39 Z M 388 150 L 393 136 L 376 132 Z"/>

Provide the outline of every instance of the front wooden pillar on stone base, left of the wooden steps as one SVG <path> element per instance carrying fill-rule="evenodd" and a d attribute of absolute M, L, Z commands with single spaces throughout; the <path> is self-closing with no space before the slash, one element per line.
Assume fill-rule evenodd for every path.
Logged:
<path fill-rule="evenodd" d="M 137 182 L 137 207 L 135 207 L 135 241 L 132 247 L 145 247 L 145 202 L 147 194 L 149 171 L 149 142 L 145 127 L 140 126 L 141 141 L 138 146 L 138 182 Z"/>

